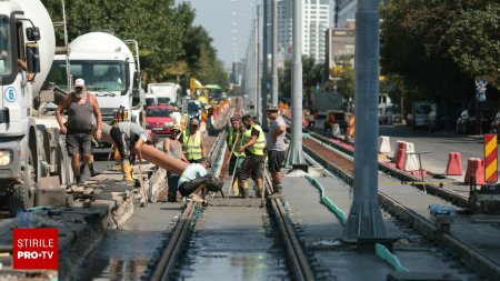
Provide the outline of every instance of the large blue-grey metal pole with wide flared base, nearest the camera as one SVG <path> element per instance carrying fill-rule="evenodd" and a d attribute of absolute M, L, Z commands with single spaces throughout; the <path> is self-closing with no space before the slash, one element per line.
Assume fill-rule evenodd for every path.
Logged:
<path fill-rule="evenodd" d="M 379 12 L 377 0 L 359 0 L 356 13 L 354 199 L 343 240 L 384 238 L 378 200 Z"/>

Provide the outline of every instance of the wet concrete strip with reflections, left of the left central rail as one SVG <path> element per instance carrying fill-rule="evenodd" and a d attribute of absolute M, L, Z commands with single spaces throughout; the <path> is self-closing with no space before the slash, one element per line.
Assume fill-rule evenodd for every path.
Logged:
<path fill-rule="evenodd" d="M 86 259 L 78 280 L 139 280 L 158 247 L 167 241 L 180 203 L 136 208 L 122 230 L 109 231 Z"/>

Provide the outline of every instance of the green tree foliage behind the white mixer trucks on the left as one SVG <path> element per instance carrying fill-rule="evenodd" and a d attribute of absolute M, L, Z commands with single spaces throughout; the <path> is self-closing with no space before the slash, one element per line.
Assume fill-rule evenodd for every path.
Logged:
<path fill-rule="evenodd" d="M 62 21 L 60 0 L 42 2 L 52 21 Z M 66 12 L 70 42 L 91 31 L 137 40 L 147 82 L 174 81 L 178 76 L 187 81 L 186 76 L 203 73 L 203 83 L 227 86 L 212 39 L 202 27 L 193 26 L 196 11 L 189 2 L 176 6 L 173 0 L 71 0 L 66 1 Z M 57 38 L 62 46 L 62 29 L 57 30 Z"/>

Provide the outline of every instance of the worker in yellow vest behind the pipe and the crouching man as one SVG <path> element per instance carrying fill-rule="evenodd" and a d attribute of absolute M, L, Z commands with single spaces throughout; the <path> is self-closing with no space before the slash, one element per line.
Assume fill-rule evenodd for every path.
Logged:
<path fill-rule="evenodd" d="M 182 150 L 186 158 L 191 163 L 199 163 L 201 158 L 207 157 L 207 149 L 204 147 L 204 138 L 198 130 L 200 128 L 200 120 L 191 118 L 189 128 L 180 136 Z"/>

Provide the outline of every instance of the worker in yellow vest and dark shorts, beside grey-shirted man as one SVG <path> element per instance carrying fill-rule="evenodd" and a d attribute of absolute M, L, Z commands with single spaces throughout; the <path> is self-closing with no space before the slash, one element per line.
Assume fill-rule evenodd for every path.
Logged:
<path fill-rule="evenodd" d="M 242 119 L 247 129 L 243 133 L 243 144 L 239 152 L 244 152 L 246 157 L 240 167 L 239 188 L 242 198 L 248 198 L 248 181 L 252 177 L 257 183 L 257 195 L 263 191 L 262 168 L 264 160 L 266 136 L 260 126 L 254 124 L 250 116 Z"/>

